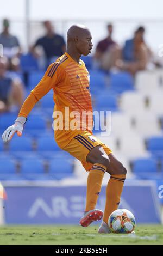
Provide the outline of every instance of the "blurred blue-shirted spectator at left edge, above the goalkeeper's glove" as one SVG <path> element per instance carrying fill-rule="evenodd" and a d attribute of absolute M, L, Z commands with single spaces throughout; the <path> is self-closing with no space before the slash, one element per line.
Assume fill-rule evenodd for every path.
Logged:
<path fill-rule="evenodd" d="M 0 58 L 0 113 L 10 111 L 12 105 L 21 107 L 24 100 L 23 84 L 18 78 L 7 76 L 8 59 Z"/>

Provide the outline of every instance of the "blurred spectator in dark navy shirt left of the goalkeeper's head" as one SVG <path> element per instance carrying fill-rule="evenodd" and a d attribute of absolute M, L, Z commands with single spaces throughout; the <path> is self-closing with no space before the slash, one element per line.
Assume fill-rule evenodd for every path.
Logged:
<path fill-rule="evenodd" d="M 66 44 L 64 38 L 55 33 L 50 21 L 43 22 L 43 25 L 46 29 L 46 35 L 37 39 L 31 51 L 35 57 L 40 57 L 36 52 L 36 46 L 42 46 L 46 57 L 46 65 L 49 65 L 65 53 Z"/>

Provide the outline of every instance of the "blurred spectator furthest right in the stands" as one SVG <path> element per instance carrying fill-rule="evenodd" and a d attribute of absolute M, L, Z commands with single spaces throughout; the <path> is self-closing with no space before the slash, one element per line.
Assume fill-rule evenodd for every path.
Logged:
<path fill-rule="evenodd" d="M 147 67 L 151 51 L 147 47 L 143 35 L 145 28 L 136 29 L 134 38 L 126 40 L 122 49 L 122 59 L 116 61 L 116 66 L 130 72 L 132 75 Z"/>

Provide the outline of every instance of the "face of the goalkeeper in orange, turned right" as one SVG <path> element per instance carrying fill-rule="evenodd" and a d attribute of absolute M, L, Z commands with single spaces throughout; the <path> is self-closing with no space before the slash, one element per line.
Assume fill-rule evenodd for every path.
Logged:
<path fill-rule="evenodd" d="M 85 29 L 83 33 L 78 36 L 77 48 L 80 54 L 87 56 L 92 50 L 92 36 L 88 29 Z"/>

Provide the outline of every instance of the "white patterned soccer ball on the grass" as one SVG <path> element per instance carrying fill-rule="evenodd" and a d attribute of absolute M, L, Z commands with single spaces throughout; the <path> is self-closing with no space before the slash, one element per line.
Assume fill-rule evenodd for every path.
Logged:
<path fill-rule="evenodd" d="M 129 210 L 118 209 L 109 216 L 109 229 L 113 233 L 131 233 L 135 228 L 135 217 Z"/>

